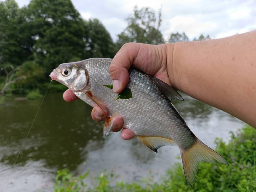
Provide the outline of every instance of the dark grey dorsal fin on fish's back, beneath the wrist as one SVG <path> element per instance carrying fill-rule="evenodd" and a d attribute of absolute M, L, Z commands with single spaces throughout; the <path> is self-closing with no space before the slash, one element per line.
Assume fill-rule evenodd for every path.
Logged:
<path fill-rule="evenodd" d="M 170 85 L 164 83 L 158 78 L 150 77 L 150 79 L 156 84 L 156 86 L 160 89 L 160 91 L 170 100 L 176 99 L 184 101 L 181 97 L 180 93 L 178 93 L 175 89 L 173 89 Z"/>

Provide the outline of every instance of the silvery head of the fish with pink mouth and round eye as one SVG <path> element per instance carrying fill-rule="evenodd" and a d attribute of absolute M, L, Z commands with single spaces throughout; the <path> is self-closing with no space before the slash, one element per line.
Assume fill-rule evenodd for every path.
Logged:
<path fill-rule="evenodd" d="M 50 77 L 76 92 L 85 91 L 88 86 L 89 78 L 83 61 L 62 63 L 52 71 Z"/>

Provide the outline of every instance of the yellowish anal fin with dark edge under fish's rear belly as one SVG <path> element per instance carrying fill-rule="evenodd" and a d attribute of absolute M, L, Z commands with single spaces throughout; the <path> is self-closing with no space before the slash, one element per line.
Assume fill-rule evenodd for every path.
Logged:
<path fill-rule="evenodd" d="M 164 137 L 137 136 L 138 139 L 149 149 L 157 153 L 157 149 L 165 145 L 176 145 L 172 139 Z"/>

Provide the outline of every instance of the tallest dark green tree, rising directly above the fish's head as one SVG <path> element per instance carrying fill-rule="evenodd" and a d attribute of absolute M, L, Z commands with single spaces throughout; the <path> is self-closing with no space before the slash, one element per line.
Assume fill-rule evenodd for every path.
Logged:
<path fill-rule="evenodd" d="M 82 58 L 84 22 L 70 0 L 31 0 L 25 19 L 34 59 L 46 75 L 60 63 Z"/>

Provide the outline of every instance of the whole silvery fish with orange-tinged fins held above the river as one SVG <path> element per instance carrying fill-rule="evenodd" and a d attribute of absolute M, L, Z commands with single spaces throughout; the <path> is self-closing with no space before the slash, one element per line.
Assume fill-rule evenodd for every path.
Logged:
<path fill-rule="evenodd" d="M 172 86 L 131 67 L 130 80 L 125 88 L 128 97 L 123 97 L 122 92 L 114 93 L 109 74 L 111 61 L 108 58 L 90 58 L 63 63 L 52 71 L 50 77 L 66 85 L 87 104 L 92 107 L 98 105 L 108 112 L 103 136 L 111 132 L 114 117 L 121 116 L 123 127 L 130 129 L 149 149 L 157 152 L 162 146 L 177 145 L 185 178 L 191 187 L 196 181 L 199 161 L 228 165 L 220 154 L 200 141 L 188 128 L 171 102 L 172 99 L 183 100 Z"/>

